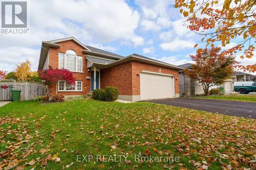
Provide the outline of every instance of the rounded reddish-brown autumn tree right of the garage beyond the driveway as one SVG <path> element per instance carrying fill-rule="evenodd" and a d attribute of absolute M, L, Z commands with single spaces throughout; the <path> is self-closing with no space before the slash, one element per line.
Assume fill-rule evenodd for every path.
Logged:
<path fill-rule="evenodd" d="M 195 62 L 192 68 L 184 70 L 185 75 L 202 84 L 205 95 L 208 95 L 209 87 L 225 83 L 233 73 L 234 56 L 220 51 L 220 47 L 199 50 L 195 56 L 190 55 Z"/>

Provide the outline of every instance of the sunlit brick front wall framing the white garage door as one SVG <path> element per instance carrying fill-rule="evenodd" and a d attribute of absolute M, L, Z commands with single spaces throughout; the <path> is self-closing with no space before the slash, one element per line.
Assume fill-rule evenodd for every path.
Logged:
<path fill-rule="evenodd" d="M 175 69 L 170 69 L 166 67 L 156 66 L 152 64 L 146 64 L 138 61 L 132 61 L 132 79 L 133 79 L 133 95 L 140 95 L 140 76 L 137 76 L 138 73 L 141 73 L 142 70 L 160 72 L 163 74 L 174 75 L 175 78 L 175 93 L 179 93 L 179 71 Z"/>

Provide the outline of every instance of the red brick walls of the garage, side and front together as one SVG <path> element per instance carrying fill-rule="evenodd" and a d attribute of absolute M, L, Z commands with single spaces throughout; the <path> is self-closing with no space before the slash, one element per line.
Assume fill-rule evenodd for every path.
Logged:
<path fill-rule="evenodd" d="M 159 72 L 163 74 L 174 75 L 175 79 L 179 78 L 179 71 L 175 69 L 160 67 L 137 61 L 129 61 L 100 72 L 100 88 L 106 86 L 115 86 L 121 95 L 140 95 L 140 76 L 142 70 Z M 179 93 L 179 81 L 175 80 L 175 93 Z"/>

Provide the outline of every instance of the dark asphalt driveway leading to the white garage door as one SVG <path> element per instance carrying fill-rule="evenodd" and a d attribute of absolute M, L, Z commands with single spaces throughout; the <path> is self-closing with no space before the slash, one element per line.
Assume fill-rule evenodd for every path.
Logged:
<path fill-rule="evenodd" d="M 252 102 L 196 98 L 158 99 L 148 102 L 256 119 L 256 103 Z"/>

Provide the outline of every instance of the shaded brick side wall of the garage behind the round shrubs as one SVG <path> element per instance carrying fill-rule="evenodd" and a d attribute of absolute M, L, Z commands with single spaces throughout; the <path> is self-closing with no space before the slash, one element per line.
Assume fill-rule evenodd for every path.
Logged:
<path fill-rule="evenodd" d="M 132 95 L 132 62 L 100 70 L 100 88 L 115 86 L 120 95 Z"/>

